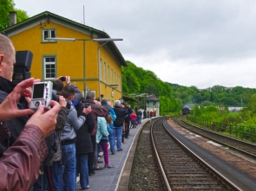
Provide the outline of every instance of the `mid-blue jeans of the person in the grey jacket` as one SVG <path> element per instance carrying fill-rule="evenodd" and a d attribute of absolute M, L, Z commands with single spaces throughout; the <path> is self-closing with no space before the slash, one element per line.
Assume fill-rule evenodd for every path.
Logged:
<path fill-rule="evenodd" d="M 76 175 L 75 175 L 75 143 L 62 145 L 62 152 L 68 156 L 68 160 L 64 168 L 64 185 L 63 190 L 75 191 Z"/>

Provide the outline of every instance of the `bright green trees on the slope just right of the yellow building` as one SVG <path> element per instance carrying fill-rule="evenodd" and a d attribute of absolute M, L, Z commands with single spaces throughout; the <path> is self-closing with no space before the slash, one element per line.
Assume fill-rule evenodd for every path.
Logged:
<path fill-rule="evenodd" d="M 160 99 L 160 114 L 162 116 L 180 114 L 181 103 L 174 99 L 172 89 L 167 82 L 161 81 L 155 73 L 136 67 L 131 61 L 127 61 L 128 68 L 122 67 L 122 92 L 124 95 L 139 95 L 141 93 L 154 94 Z M 144 108 L 146 97 L 139 99 L 138 106 Z"/>

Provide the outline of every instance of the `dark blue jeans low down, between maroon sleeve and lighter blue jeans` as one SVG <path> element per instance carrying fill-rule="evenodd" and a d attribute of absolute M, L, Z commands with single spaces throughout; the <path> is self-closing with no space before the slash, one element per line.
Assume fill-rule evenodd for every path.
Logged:
<path fill-rule="evenodd" d="M 49 166 L 49 174 L 50 174 L 50 180 L 52 183 L 52 187 L 54 188 L 54 191 L 62 191 L 62 175 L 64 171 L 64 166 L 61 162 L 53 162 L 51 166 Z"/>

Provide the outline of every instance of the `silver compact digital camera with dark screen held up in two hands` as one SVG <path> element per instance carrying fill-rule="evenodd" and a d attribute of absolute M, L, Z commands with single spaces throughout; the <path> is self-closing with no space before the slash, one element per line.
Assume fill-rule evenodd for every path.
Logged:
<path fill-rule="evenodd" d="M 50 109 L 49 102 L 52 97 L 52 82 L 42 81 L 36 82 L 32 86 L 32 96 L 30 109 L 37 110 L 39 105 L 43 105 Z"/>

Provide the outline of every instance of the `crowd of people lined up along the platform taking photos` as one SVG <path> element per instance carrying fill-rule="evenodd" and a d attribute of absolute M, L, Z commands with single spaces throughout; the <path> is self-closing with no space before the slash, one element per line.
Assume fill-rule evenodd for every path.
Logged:
<path fill-rule="evenodd" d="M 15 62 L 12 42 L 0 34 L 0 190 L 72 191 L 77 175 L 81 188 L 88 189 L 95 170 L 115 168 L 108 143 L 112 155 L 122 151 L 131 120 L 134 127 L 135 118 L 141 124 L 141 111 L 135 114 L 120 100 L 112 107 L 108 99 L 96 100 L 94 92 L 84 98 L 69 76 L 53 81 L 51 109 L 39 105 L 32 111 L 31 86 L 40 80 L 12 83 Z"/>

